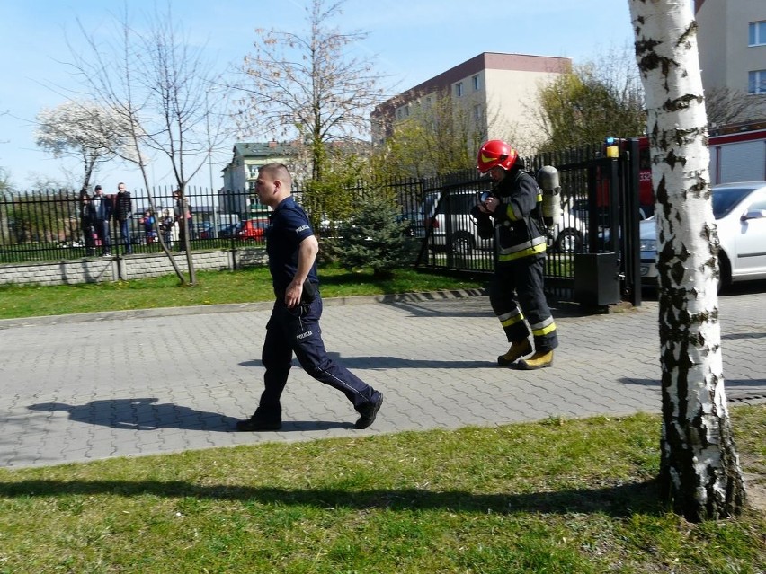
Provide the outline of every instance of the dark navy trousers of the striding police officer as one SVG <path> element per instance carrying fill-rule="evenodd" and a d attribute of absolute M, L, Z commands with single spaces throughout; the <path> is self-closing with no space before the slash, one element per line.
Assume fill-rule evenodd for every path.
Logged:
<path fill-rule="evenodd" d="M 327 356 L 319 318 L 322 297 L 289 309 L 278 298 L 266 323 L 261 360 L 266 368 L 265 389 L 258 411 L 264 417 L 281 416 L 280 397 L 287 384 L 293 354 L 308 375 L 346 395 L 356 410 L 372 400 L 374 389 L 346 367 Z"/>

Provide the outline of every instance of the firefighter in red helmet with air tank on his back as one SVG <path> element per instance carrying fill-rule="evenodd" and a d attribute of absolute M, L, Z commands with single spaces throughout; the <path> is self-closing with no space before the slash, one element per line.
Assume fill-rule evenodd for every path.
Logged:
<path fill-rule="evenodd" d="M 494 233 L 496 238 L 497 263 L 489 299 L 511 343 L 497 364 L 523 370 L 552 366 L 558 339 L 543 291 L 542 193 L 516 150 L 502 140 L 482 144 L 477 168 L 494 181 L 492 193 L 478 205 L 477 225 L 480 233 Z"/>

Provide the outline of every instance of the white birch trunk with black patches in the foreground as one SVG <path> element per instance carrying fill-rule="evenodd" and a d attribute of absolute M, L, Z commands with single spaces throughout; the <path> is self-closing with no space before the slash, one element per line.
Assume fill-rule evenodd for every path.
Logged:
<path fill-rule="evenodd" d="M 726 408 L 718 238 L 690 0 L 628 0 L 656 195 L 663 427 L 659 483 L 691 521 L 738 514 L 745 490 Z"/>

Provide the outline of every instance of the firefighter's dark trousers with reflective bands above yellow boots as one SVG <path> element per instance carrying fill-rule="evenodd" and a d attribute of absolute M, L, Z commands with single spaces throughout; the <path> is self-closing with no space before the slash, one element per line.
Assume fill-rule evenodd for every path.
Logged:
<path fill-rule="evenodd" d="M 522 257 L 498 265 L 489 286 L 489 301 L 509 342 L 532 333 L 536 351 L 556 349 L 556 322 L 543 289 L 545 258 Z"/>

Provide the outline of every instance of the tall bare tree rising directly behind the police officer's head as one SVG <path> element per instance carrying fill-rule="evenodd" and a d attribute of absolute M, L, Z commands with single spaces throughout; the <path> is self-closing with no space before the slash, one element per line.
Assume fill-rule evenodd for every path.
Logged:
<path fill-rule="evenodd" d="M 349 47 L 367 34 L 331 26 L 342 4 L 311 0 L 305 35 L 256 30 L 254 54 L 243 66 L 246 83 L 239 86 L 245 92 L 240 125 L 305 143 L 316 181 L 322 179 L 326 144 L 367 134 L 370 110 L 382 94 L 370 60 L 349 55 Z"/>

